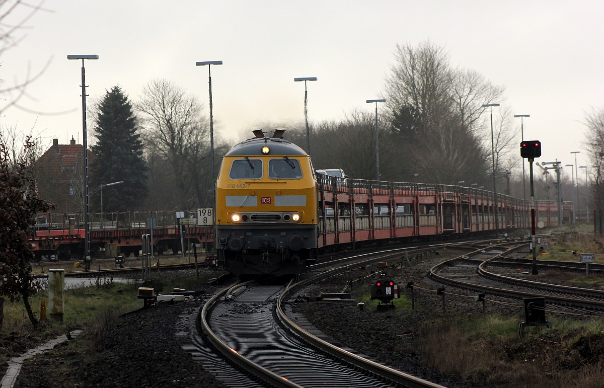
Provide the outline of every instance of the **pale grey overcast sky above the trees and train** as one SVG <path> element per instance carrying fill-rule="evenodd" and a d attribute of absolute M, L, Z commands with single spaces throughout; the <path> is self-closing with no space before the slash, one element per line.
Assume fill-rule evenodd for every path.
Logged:
<path fill-rule="evenodd" d="M 5 88 L 50 61 L 20 103 L 55 114 L 10 108 L 0 120 L 22 131 L 34 126 L 49 144 L 82 141 L 81 61 L 67 54 L 100 57 L 85 63 L 88 102 L 115 85 L 135 101 L 161 78 L 197 95 L 206 109 L 208 71 L 195 62 L 222 60 L 212 67 L 214 120 L 231 141 L 259 122 L 303 122 L 304 83 L 294 77 L 318 77 L 308 85 L 311 122 L 373 111 L 365 100 L 384 89 L 396 44 L 426 40 L 444 47 L 453 66 L 506 87 L 511 114 L 531 116 L 524 138 L 541 140 L 540 161 L 574 164 L 570 152 L 579 150 L 577 164 L 585 164 L 582 121 L 604 107 L 600 0 L 56 0 L 43 7 L 48 11 L 16 34 L 21 42 L 2 53 L 0 75 Z"/>

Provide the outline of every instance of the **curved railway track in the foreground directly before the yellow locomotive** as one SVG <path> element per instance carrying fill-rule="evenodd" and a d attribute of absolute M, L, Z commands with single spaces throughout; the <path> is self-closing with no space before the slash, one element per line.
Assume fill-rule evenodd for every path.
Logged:
<path fill-rule="evenodd" d="M 393 255 L 400 257 L 401 251 L 348 257 L 340 260 L 341 267 L 310 271 L 288 285 L 228 286 L 198 309 L 198 318 L 182 317 L 186 329 L 179 341 L 233 387 L 440 387 L 345 348 L 291 310 L 289 300 L 301 297 L 298 293 L 310 284 Z M 203 331 L 201 337 L 196 329 Z M 220 349 L 220 355 L 208 355 L 210 348 Z M 224 358 L 234 367 L 224 366 Z"/>

